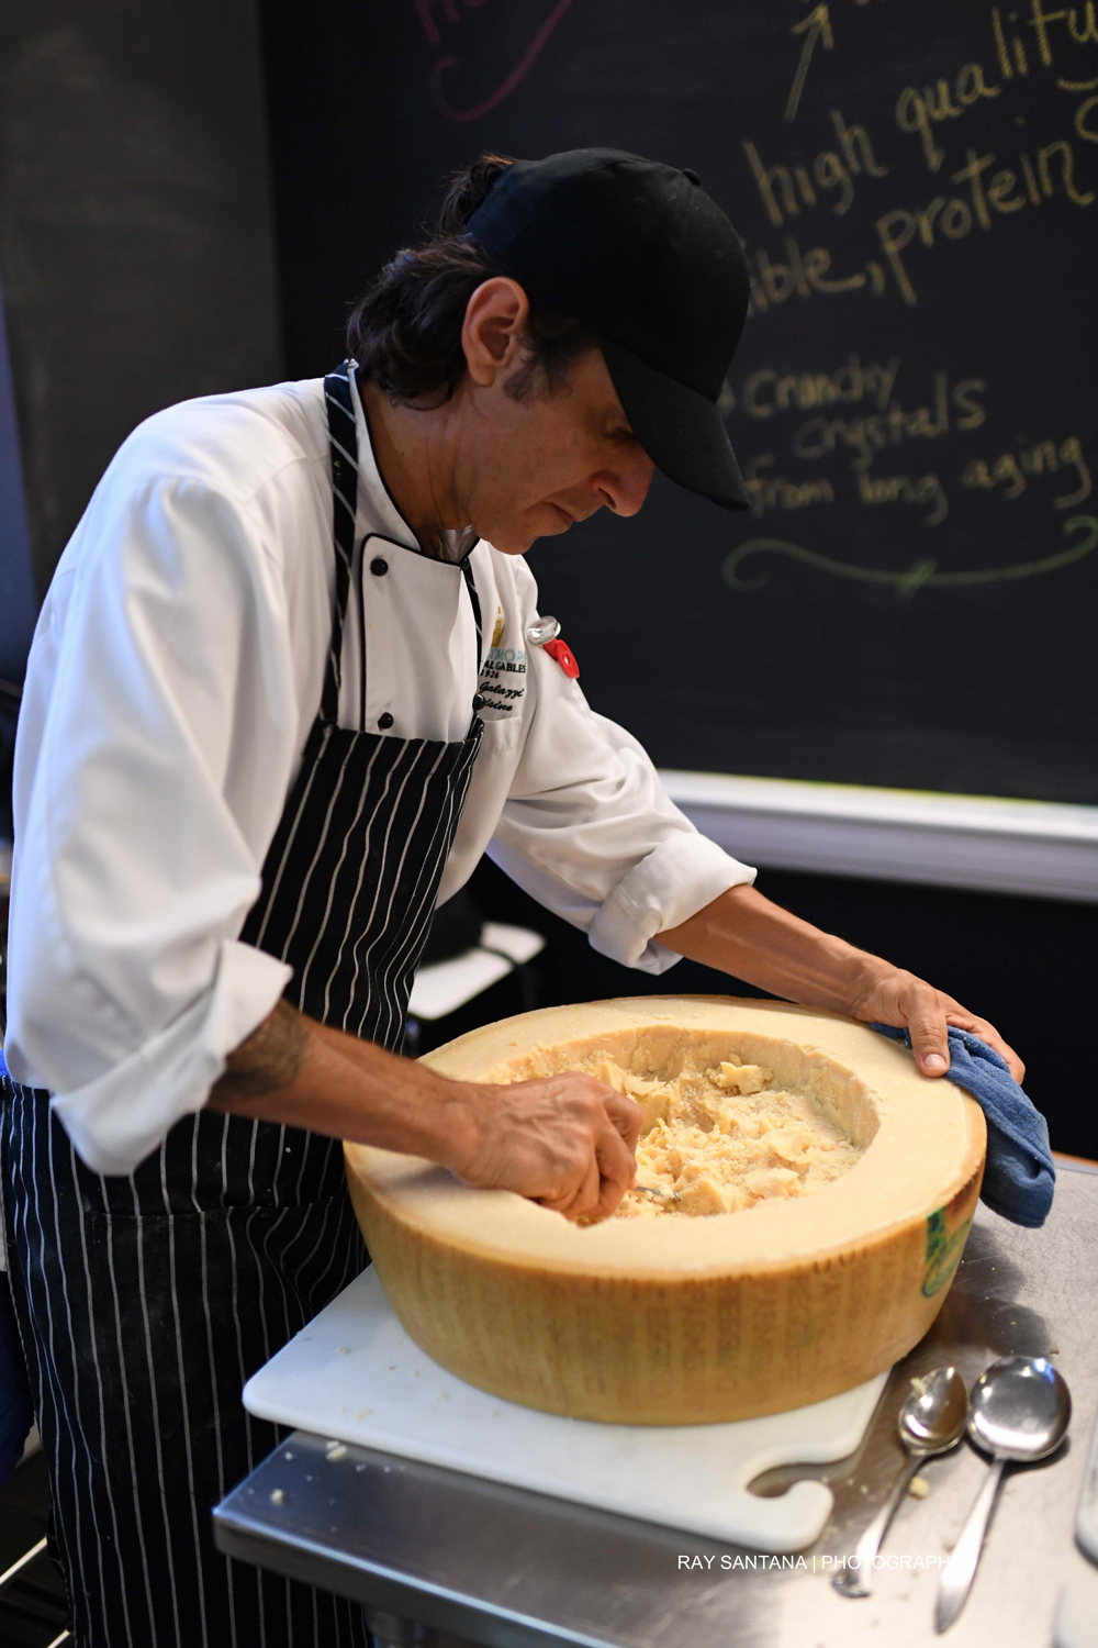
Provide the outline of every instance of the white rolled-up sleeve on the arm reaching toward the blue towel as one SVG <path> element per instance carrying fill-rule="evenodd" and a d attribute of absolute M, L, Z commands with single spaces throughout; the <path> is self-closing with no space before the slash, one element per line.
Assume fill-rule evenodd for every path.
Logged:
<path fill-rule="evenodd" d="M 594 949 L 663 972 L 680 957 L 655 934 L 756 872 L 695 829 L 637 740 L 542 648 L 527 682 L 525 743 L 489 855 Z"/>

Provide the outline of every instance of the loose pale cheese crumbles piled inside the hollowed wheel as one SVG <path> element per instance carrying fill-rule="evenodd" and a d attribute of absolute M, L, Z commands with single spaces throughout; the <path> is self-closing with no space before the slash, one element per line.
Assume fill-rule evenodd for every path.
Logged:
<path fill-rule="evenodd" d="M 861 1150 L 803 1093 L 774 1088 L 774 1071 L 736 1056 L 710 1066 L 685 1060 L 660 1081 L 607 1055 L 584 1068 L 644 1111 L 637 1183 L 616 1218 L 741 1213 L 761 1201 L 812 1195 L 861 1159 Z"/>

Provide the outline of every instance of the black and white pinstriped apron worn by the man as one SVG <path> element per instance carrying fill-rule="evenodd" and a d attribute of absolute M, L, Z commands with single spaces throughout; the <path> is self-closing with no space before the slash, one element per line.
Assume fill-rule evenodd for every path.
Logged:
<path fill-rule="evenodd" d="M 336 602 L 321 710 L 242 939 L 286 997 L 400 1048 L 408 992 L 482 722 L 433 743 L 337 725 L 354 570 L 356 422 L 324 381 Z M 464 577 L 481 620 L 468 559 Z M 49 1096 L 12 1083 L 12 1292 L 49 1463 L 77 1648 L 344 1648 L 356 1605 L 222 1557 L 211 1506 L 277 1444 L 240 1388 L 367 1262 L 339 1142 L 201 1111 L 128 1177 L 76 1155 Z"/>

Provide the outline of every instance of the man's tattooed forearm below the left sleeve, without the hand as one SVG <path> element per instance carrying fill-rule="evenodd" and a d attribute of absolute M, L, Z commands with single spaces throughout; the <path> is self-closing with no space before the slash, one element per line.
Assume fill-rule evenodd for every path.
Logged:
<path fill-rule="evenodd" d="M 209 1107 L 446 1165 L 469 1150 L 461 1083 L 306 1018 L 288 1002 L 229 1055 Z"/>

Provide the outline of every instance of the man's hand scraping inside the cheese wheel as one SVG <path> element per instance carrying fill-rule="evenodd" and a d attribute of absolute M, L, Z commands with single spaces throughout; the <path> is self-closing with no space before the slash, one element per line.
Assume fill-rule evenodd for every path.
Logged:
<path fill-rule="evenodd" d="M 469 1083 L 469 1144 L 448 1167 L 568 1220 L 604 1220 L 635 1178 L 642 1111 L 578 1070 L 509 1086 Z"/>

